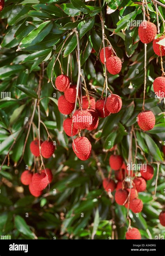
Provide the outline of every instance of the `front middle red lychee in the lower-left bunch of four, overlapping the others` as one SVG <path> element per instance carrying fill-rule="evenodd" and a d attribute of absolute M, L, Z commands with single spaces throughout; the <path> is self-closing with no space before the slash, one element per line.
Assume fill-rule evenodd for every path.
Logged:
<path fill-rule="evenodd" d="M 48 185 L 48 178 L 44 172 L 34 173 L 32 177 L 33 187 L 37 190 L 43 190 Z"/>

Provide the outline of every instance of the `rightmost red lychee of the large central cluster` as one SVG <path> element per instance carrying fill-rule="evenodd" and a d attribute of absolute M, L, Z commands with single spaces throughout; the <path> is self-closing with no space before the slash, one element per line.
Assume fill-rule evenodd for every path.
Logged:
<path fill-rule="evenodd" d="M 110 113 L 118 113 L 122 107 L 120 96 L 111 94 L 106 101 L 106 107 Z"/>

